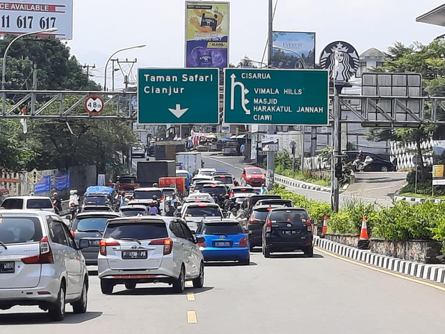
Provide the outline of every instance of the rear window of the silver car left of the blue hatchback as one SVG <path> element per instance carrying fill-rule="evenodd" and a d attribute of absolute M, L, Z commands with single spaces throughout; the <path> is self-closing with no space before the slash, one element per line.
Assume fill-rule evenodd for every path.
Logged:
<path fill-rule="evenodd" d="M 167 238 L 167 228 L 164 223 L 113 223 L 108 225 L 104 239 L 161 239 Z"/>

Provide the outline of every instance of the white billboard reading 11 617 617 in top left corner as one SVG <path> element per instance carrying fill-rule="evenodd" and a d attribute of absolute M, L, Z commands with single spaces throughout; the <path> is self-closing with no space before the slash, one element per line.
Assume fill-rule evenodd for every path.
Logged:
<path fill-rule="evenodd" d="M 56 38 L 72 39 L 73 0 L 0 0 L 0 35 L 57 28 Z"/>

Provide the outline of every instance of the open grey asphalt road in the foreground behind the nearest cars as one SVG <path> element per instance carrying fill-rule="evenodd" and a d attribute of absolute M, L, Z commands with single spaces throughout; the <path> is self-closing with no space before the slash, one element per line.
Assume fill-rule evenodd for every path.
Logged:
<path fill-rule="evenodd" d="M 36 307 L 0 311 L 0 333 L 444 333 L 445 292 L 316 252 L 252 253 L 252 264 L 211 264 L 202 289 L 167 285 L 115 289 L 90 276 L 86 315 L 62 323 Z M 92 273 L 94 274 L 94 273 Z M 193 293 L 193 296 L 188 294 Z M 193 298 L 194 297 L 194 298 Z M 195 299 L 195 301 L 188 301 Z M 188 315 L 188 311 L 190 314 Z M 196 320 L 196 324 L 188 321 Z"/>

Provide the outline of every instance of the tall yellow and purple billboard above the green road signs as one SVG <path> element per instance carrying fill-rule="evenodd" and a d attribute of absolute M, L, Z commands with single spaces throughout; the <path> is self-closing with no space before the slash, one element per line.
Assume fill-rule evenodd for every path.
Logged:
<path fill-rule="evenodd" d="M 229 3 L 186 2 L 186 67 L 229 64 Z"/>

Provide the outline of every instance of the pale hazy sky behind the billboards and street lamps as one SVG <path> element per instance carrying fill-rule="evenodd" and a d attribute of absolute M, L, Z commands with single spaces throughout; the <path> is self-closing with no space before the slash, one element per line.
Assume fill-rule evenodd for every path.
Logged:
<path fill-rule="evenodd" d="M 267 38 L 267 0 L 232 0 L 230 61 L 248 55 L 261 60 Z M 316 58 L 325 45 L 345 40 L 361 53 L 385 50 L 398 40 L 428 43 L 445 28 L 416 23 L 419 15 L 444 0 L 278 0 L 274 30 L 316 32 Z M 184 0 L 74 0 L 74 38 L 68 43 L 81 63 L 103 67 L 113 51 L 147 44 L 119 54 L 138 59 L 137 67 L 184 66 Z M 108 71 L 111 76 L 111 71 Z M 117 72 L 118 87 L 122 76 Z"/>

